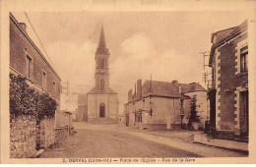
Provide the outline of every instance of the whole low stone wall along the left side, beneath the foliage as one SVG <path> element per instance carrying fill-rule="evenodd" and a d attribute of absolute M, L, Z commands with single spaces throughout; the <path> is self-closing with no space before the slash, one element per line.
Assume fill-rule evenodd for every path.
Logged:
<path fill-rule="evenodd" d="M 69 121 L 70 117 L 65 118 Z M 34 116 L 13 118 L 10 120 L 10 157 L 33 158 L 36 149 L 46 148 L 73 134 L 74 127 L 55 128 L 55 118 L 44 117 L 37 125 Z"/>

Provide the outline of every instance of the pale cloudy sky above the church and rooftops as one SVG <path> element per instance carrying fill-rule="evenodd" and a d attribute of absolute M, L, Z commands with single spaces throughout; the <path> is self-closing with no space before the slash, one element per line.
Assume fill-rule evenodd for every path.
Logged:
<path fill-rule="evenodd" d="M 100 26 L 110 52 L 110 87 L 118 92 L 119 113 L 137 80 L 201 83 L 211 34 L 240 25 L 246 12 L 28 12 L 13 13 L 44 53 L 70 92 L 86 93 L 95 85 L 95 54 Z M 44 53 L 45 55 L 45 53 Z M 206 59 L 206 64 L 207 59 Z M 67 98 L 72 99 L 67 102 Z M 61 100 L 75 110 L 76 95 Z M 64 104 L 65 103 L 65 104 Z M 69 105 L 69 106 L 67 106 Z"/>

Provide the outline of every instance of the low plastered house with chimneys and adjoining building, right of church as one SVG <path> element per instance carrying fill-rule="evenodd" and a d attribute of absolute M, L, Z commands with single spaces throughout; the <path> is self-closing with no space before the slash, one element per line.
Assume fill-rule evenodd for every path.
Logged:
<path fill-rule="evenodd" d="M 135 92 L 132 89 L 128 92 L 124 122 L 126 126 L 152 130 L 186 129 L 191 103 L 189 95 L 199 99 L 200 104 L 207 103 L 207 91 L 199 83 L 146 81 L 142 84 L 142 80 L 139 80 L 137 86 L 135 85 Z M 207 118 L 207 108 L 204 109 L 203 112 L 198 112 L 202 118 L 202 126 Z"/>

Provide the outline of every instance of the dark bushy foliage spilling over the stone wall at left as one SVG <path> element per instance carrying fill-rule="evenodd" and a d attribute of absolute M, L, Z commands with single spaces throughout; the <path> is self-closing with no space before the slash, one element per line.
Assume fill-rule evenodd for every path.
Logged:
<path fill-rule="evenodd" d="M 26 83 L 26 78 L 10 74 L 11 116 L 33 115 L 36 120 L 53 117 L 57 107 L 55 99 L 46 93 L 38 94 Z"/>

